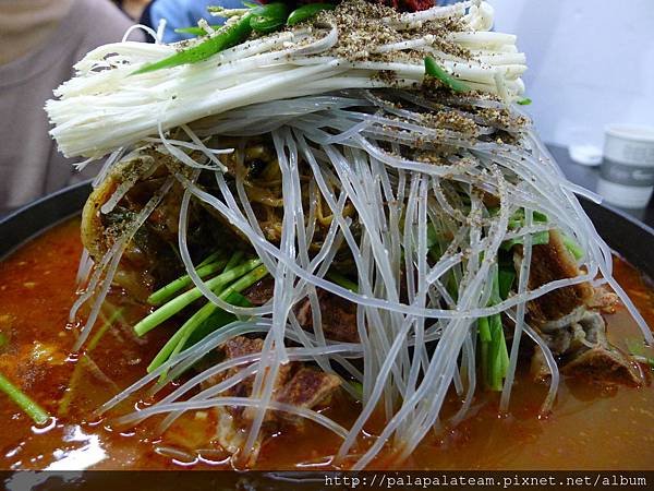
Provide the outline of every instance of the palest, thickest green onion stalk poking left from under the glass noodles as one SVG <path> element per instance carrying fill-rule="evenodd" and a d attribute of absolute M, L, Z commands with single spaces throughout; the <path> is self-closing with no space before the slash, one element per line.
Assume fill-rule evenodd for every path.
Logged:
<path fill-rule="evenodd" d="M 254 270 L 261 263 L 262 263 L 262 261 L 258 259 L 246 261 L 243 264 L 241 264 L 240 266 L 234 267 L 233 270 L 230 270 L 230 271 L 226 271 L 225 273 L 221 273 L 220 275 L 205 282 L 205 286 L 209 290 L 216 290 L 216 289 L 220 290 L 220 289 L 222 289 L 222 287 L 225 285 L 228 285 L 231 282 L 233 282 L 234 279 L 240 278 L 245 273 Z M 193 303 L 195 300 L 197 300 L 201 297 L 202 297 L 202 291 L 199 291 L 199 289 L 197 287 L 183 292 L 179 297 L 173 298 L 168 303 L 165 303 L 159 309 L 155 310 L 153 313 L 150 313 L 145 319 L 141 320 L 134 326 L 134 332 L 136 333 L 136 335 L 143 336 L 144 334 L 154 330 L 159 324 L 161 324 L 164 321 L 167 321 L 168 319 L 170 319 L 171 316 L 173 316 L 174 314 L 180 312 L 183 308 L 185 308 L 190 303 Z"/>

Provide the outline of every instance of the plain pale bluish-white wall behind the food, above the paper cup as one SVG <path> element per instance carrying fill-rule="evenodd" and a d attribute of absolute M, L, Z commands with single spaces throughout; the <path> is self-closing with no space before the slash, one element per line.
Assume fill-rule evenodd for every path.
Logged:
<path fill-rule="evenodd" d="M 491 0 L 518 35 L 533 116 L 547 143 L 602 147 L 609 123 L 654 123 L 654 1 Z"/>

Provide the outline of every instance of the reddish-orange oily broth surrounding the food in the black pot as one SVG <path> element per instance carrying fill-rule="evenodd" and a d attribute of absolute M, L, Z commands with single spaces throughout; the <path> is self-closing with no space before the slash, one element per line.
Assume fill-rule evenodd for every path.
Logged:
<path fill-rule="evenodd" d="M 78 357 L 70 356 L 74 326 L 68 313 L 75 299 L 75 274 L 82 251 L 78 219 L 52 228 L 0 263 L 0 330 L 10 342 L 0 350 L 0 371 L 51 414 L 69 391 Z M 654 325 L 654 291 L 631 266 L 615 262 L 615 274 Z M 76 396 L 68 414 L 48 431 L 0 395 L 0 468 L 231 468 L 205 421 L 210 415 L 186 415 L 165 438 L 155 439 L 153 423 L 136 431 L 111 428 L 93 414 L 101 403 L 143 376 L 152 357 L 170 335 L 155 330 L 136 343 L 129 328 L 146 309 L 113 292 L 122 319 L 92 359 L 95 370 L 77 369 Z M 638 335 L 623 309 L 607 315 L 609 336 L 618 345 Z M 97 327 L 97 326 L 96 326 Z M 517 378 L 511 414 L 497 416 L 497 395 L 479 396 L 472 415 L 459 427 L 425 439 L 403 464 L 414 469 L 590 469 L 654 468 L 654 388 L 603 387 L 566 379 L 552 415 L 538 418 L 546 387 L 525 373 Z M 456 406 L 456 397 L 450 404 Z M 130 403 L 133 404 L 133 403 Z M 129 410 L 130 406 L 123 406 Z M 355 403 L 335 397 L 326 414 L 348 426 Z M 374 426 L 373 426 L 374 427 Z M 374 429 L 372 430 L 374 431 Z M 282 433 L 266 444 L 258 466 L 265 469 L 320 467 L 339 440 L 314 424 Z M 199 448 L 199 457 L 185 446 Z M 376 463 L 385 466 L 384 460 Z"/>

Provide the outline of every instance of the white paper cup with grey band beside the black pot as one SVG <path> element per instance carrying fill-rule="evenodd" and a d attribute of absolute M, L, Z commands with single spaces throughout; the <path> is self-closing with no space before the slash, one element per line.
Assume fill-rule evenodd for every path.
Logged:
<path fill-rule="evenodd" d="M 616 206 L 643 208 L 653 190 L 654 128 L 638 124 L 606 127 L 597 192 Z"/>

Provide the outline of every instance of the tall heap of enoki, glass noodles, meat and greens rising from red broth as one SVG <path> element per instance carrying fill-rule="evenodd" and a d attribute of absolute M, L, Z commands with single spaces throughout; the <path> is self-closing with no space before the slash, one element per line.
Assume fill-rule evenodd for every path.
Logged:
<path fill-rule="evenodd" d="M 311 420 L 342 438 L 334 465 L 361 469 L 402 462 L 480 391 L 507 411 L 521 352 L 544 412 L 559 371 L 641 383 L 601 311 L 619 297 L 652 335 L 576 194 L 595 196 L 520 111 L 524 56 L 492 8 L 290 10 L 215 9 L 226 25 L 194 40 L 97 48 L 47 104 L 64 154 L 110 154 L 84 211 L 77 348 L 112 284 L 154 306 L 137 335 L 178 326 L 101 410 L 181 380 L 119 422 L 210 408 L 252 465 Z M 350 428 L 319 411 L 336 391 L 361 400 Z"/>

